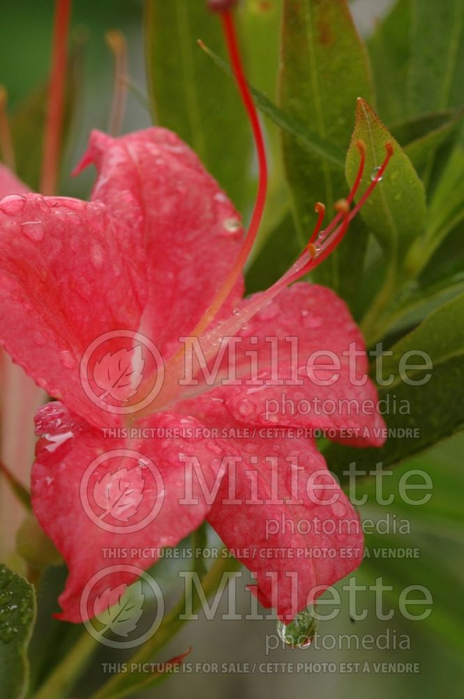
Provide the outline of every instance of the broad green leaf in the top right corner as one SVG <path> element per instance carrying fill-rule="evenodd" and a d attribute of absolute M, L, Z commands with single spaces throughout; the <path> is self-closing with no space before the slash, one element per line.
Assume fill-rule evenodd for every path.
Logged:
<path fill-rule="evenodd" d="M 412 0 L 409 113 L 464 104 L 464 0 Z"/>

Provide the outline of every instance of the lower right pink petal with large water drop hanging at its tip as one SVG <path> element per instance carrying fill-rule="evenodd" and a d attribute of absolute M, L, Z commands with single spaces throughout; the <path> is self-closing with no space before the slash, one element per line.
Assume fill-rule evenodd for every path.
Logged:
<path fill-rule="evenodd" d="M 262 605 L 290 621 L 361 563 L 359 517 L 314 440 L 294 428 L 244 427 L 204 396 L 197 411 L 221 435 L 227 430 L 229 454 L 238 457 L 207 520 L 253 572 Z"/>

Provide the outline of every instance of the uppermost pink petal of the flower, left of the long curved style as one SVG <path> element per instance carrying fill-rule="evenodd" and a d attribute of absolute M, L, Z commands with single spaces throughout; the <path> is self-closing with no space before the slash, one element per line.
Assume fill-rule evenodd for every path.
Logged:
<path fill-rule="evenodd" d="M 93 131 L 83 165 L 91 161 L 98 170 L 93 199 L 127 222 L 133 210 L 144 213 L 149 303 L 142 332 L 166 359 L 179 336 L 193 330 L 232 268 L 243 235 L 239 215 L 195 153 L 166 129 L 121 138 Z M 242 294 L 240 279 L 226 313 Z"/>

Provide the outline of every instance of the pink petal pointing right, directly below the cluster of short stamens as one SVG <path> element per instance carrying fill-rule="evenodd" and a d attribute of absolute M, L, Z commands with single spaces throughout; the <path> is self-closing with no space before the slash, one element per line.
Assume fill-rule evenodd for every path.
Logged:
<path fill-rule="evenodd" d="M 384 421 L 368 378 L 364 339 L 334 291 L 293 284 L 257 312 L 239 336 L 240 384 L 209 394 L 224 398 L 236 419 L 326 429 L 331 439 L 357 446 L 383 444 Z M 257 356 L 258 380 L 250 382 L 252 356 Z M 318 368 L 322 365 L 327 368 Z"/>

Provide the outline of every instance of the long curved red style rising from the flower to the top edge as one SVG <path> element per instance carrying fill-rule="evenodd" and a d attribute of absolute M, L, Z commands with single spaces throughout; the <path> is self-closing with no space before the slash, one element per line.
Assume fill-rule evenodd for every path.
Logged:
<path fill-rule="evenodd" d="M 248 226 L 248 231 L 246 233 L 244 243 L 241 247 L 237 259 L 234 262 L 234 266 L 230 270 L 227 278 L 218 290 L 215 298 L 207 308 L 206 312 L 200 322 L 197 324 L 195 329 L 192 331 L 193 336 L 200 335 L 211 321 L 216 316 L 216 313 L 223 305 L 227 296 L 232 291 L 241 270 L 248 259 L 253 243 L 257 235 L 257 231 L 260 227 L 262 215 L 264 212 L 264 205 L 266 203 L 267 194 L 267 159 L 266 159 L 266 148 L 264 146 L 264 137 L 262 134 L 262 129 L 260 125 L 260 120 L 257 115 L 255 108 L 255 103 L 250 94 L 250 89 L 248 88 L 248 83 L 246 82 L 246 76 L 244 73 L 244 67 L 241 62 L 239 43 L 237 41 L 237 34 L 234 27 L 234 20 L 230 11 L 227 8 L 232 6 L 229 2 L 209 2 L 211 9 L 216 9 L 220 11 L 220 19 L 223 24 L 223 31 L 225 35 L 225 41 L 227 44 L 227 50 L 229 52 L 230 62 L 232 64 L 232 69 L 234 71 L 235 79 L 237 80 L 237 85 L 239 87 L 239 92 L 241 94 L 241 99 L 244 103 L 246 111 L 248 113 L 248 118 L 250 120 L 251 127 L 253 129 L 253 137 L 255 139 L 255 147 L 257 151 L 257 159 L 259 166 L 258 175 L 258 187 L 255 200 L 255 206 L 253 208 L 253 214 L 251 215 L 250 225 Z M 226 9 L 224 9 L 226 8 Z"/>

